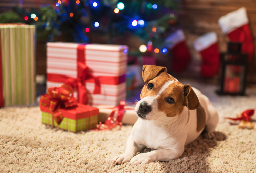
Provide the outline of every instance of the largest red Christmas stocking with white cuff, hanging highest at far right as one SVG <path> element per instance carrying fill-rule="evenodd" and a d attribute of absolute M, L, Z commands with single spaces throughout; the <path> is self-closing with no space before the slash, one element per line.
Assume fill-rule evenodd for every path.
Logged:
<path fill-rule="evenodd" d="M 249 55 L 249 62 L 254 53 L 254 42 L 251 30 L 248 25 L 248 17 L 244 7 L 232 11 L 219 19 L 222 32 L 227 34 L 234 42 L 242 43 L 242 52 Z"/>

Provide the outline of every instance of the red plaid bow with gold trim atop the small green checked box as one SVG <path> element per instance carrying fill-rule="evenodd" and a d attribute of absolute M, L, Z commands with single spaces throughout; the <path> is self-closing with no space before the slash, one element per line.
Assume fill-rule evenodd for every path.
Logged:
<path fill-rule="evenodd" d="M 60 124 L 63 116 L 60 108 L 77 107 L 77 99 L 74 98 L 73 90 L 68 85 L 60 87 L 52 87 L 48 89 L 48 93 L 41 95 L 39 105 L 48 106 L 48 109 L 54 114 L 52 117 L 57 124 Z"/>

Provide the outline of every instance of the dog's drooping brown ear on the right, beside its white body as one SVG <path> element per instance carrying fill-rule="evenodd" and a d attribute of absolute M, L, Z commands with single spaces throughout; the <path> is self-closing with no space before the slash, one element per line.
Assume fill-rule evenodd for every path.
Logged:
<path fill-rule="evenodd" d="M 187 106 L 189 110 L 194 110 L 200 107 L 195 91 L 188 84 L 184 85 L 184 105 Z"/>

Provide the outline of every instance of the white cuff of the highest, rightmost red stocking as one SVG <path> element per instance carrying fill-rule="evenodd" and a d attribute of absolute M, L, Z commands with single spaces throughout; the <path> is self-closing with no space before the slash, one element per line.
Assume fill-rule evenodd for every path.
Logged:
<path fill-rule="evenodd" d="M 231 29 L 239 28 L 245 24 L 248 24 L 248 17 L 246 15 L 246 9 L 244 7 L 239 8 L 236 11 L 232 11 L 219 18 L 218 23 L 223 33 L 228 33 Z"/>

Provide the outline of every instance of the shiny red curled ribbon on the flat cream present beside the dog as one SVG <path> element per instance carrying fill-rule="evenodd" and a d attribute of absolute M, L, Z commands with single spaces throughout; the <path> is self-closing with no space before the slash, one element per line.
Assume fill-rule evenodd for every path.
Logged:
<path fill-rule="evenodd" d="M 125 110 L 132 110 L 131 108 L 124 108 L 125 106 L 125 101 L 120 101 L 120 105 L 119 106 L 115 106 L 113 108 L 109 108 L 109 109 L 113 109 L 112 112 L 110 113 L 108 119 L 105 121 L 104 124 L 102 124 L 101 122 L 99 124 L 96 125 L 96 128 L 93 129 L 95 131 L 102 131 L 102 130 L 109 130 L 112 129 L 116 126 L 120 126 L 120 128 L 122 127 L 122 119 L 123 119 L 123 115 Z M 117 118 L 114 118 L 114 114 L 115 111 L 117 112 Z"/>

